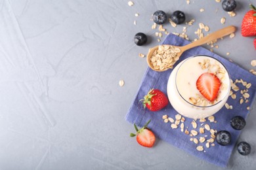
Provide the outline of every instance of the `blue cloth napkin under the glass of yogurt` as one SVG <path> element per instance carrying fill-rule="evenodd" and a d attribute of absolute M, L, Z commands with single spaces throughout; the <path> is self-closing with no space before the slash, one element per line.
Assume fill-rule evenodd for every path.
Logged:
<path fill-rule="evenodd" d="M 182 39 L 181 37 L 170 34 L 165 38 L 162 44 L 184 46 L 188 43 L 190 42 Z M 216 129 L 217 131 L 229 131 L 231 133 L 232 140 L 228 146 L 221 146 L 216 141 L 214 141 L 215 146 L 211 146 L 210 144 L 210 147 L 207 148 L 205 146 L 206 141 L 204 143 L 199 142 L 198 144 L 196 144 L 190 141 L 190 138 L 192 137 L 182 132 L 180 127 L 178 127 L 177 129 L 172 129 L 171 122 L 165 123 L 163 122 L 162 118 L 162 116 L 165 114 L 167 114 L 171 118 L 175 118 L 175 115 L 178 114 L 178 112 L 173 109 L 171 104 L 167 105 L 165 109 L 162 109 L 158 112 L 151 112 L 148 109 L 143 108 L 142 103 L 139 100 L 142 99 L 151 88 L 159 89 L 167 94 L 167 80 L 169 78 L 169 75 L 171 74 L 172 69 L 164 72 L 156 72 L 148 67 L 144 77 L 142 78 L 142 82 L 140 84 L 137 95 L 135 96 L 135 99 L 131 105 L 131 108 L 125 116 L 125 120 L 131 122 L 132 124 L 135 123 L 140 127 L 146 124 L 148 120 L 151 120 L 148 128 L 152 129 L 156 137 L 158 137 L 159 139 L 166 141 L 169 144 L 173 144 L 174 146 L 177 146 L 182 150 L 186 150 L 186 152 L 197 156 L 202 160 L 209 161 L 221 167 L 226 167 L 228 165 L 228 160 L 230 158 L 232 150 L 236 145 L 236 141 L 238 140 L 238 137 L 241 133 L 241 131 L 232 129 L 232 127 L 230 126 L 230 119 L 238 115 L 244 117 L 245 119 L 247 118 L 249 114 L 249 110 L 247 110 L 247 107 L 250 107 L 253 103 L 253 100 L 255 99 L 256 76 L 252 75 L 248 71 L 245 71 L 235 63 L 232 63 L 227 59 L 221 58 L 217 54 L 214 54 L 213 52 L 210 52 L 203 47 L 192 48 L 184 52 L 180 60 L 177 61 L 177 63 L 175 64 L 175 66 L 182 59 L 186 59 L 190 56 L 195 56 L 198 54 L 205 54 L 207 56 L 219 59 L 219 61 L 221 61 L 223 65 L 228 69 L 232 80 L 240 80 L 242 78 L 242 80 L 244 80 L 245 82 L 250 82 L 252 84 L 251 88 L 249 88 L 249 91 L 247 92 L 250 95 L 248 98 L 249 102 L 244 102 L 242 103 L 242 105 L 240 104 L 240 97 L 242 97 L 240 90 L 246 88 L 241 83 L 237 83 L 236 85 L 240 88 L 240 90 L 236 92 L 236 99 L 232 99 L 231 97 L 229 97 L 227 101 L 229 105 L 232 105 L 233 109 L 226 109 L 226 107 L 223 107 L 221 110 L 219 110 L 219 112 L 214 114 L 215 120 L 217 121 L 216 123 L 209 122 L 209 120 L 207 120 L 207 122 L 200 122 L 199 120 L 196 120 L 196 123 L 198 124 L 196 131 L 199 131 L 199 128 L 203 127 L 204 124 L 209 124 L 211 129 Z M 192 130 L 192 119 L 185 119 L 186 120 L 184 121 L 184 129 L 186 129 L 187 127 L 188 131 Z M 209 139 L 210 135 L 211 133 L 205 130 L 204 134 L 198 133 L 196 138 L 199 139 L 199 137 L 205 137 L 206 139 Z M 203 152 L 199 152 L 198 150 L 196 150 L 196 147 L 199 145 L 203 146 Z"/>

